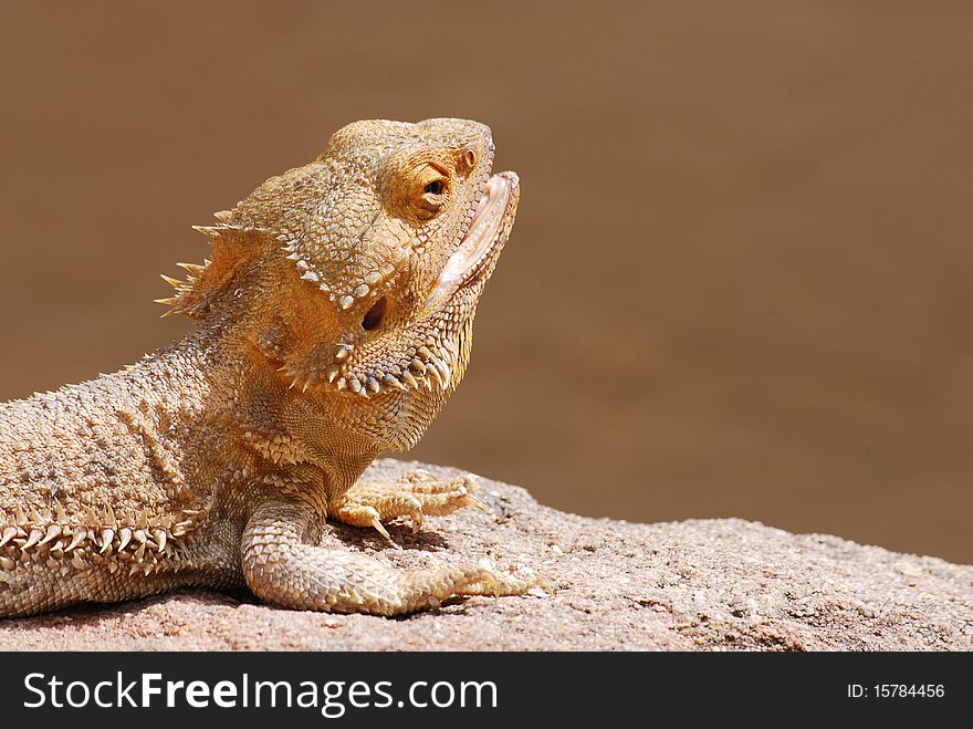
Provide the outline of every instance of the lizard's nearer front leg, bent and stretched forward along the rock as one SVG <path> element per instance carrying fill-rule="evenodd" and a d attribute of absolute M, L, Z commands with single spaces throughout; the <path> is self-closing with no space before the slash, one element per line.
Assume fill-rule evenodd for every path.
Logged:
<path fill-rule="evenodd" d="M 499 576 L 477 564 L 401 571 L 364 554 L 318 545 L 321 515 L 301 503 L 257 509 L 243 532 L 243 576 L 282 607 L 400 615 L 459 595 L 515 595 L 536 581 Z"/>

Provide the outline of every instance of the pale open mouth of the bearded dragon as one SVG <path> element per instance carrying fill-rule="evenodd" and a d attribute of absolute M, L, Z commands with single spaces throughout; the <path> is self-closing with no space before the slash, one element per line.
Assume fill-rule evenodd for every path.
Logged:
<path fill-rule="evenodd" d="M 471 283 L 496 260 L 513 223 L 517 188 L 514 173 L 500 173 L 486 181 L 467 233 L 439 274 L 430 303 Z"/>

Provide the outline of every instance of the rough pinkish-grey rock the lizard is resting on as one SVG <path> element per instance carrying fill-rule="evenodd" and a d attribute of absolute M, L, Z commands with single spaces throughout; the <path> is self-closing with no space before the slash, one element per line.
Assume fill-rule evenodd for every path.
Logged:
<path fill-rule="evenodd" d="M 408 466 L 379 461 L 373 476 Z M 485 479 L 479 496 L 486 512 L 430 518 L 415 535 L 393 524 L 401 551 L 367 530 L 336 537 L 400 566 L 527 565 L 553 594 L 387 619 L 184 591 L 0 621 L 0 649 L 973 649 L 973 566 L 735 519 L 586 519 Z"/>

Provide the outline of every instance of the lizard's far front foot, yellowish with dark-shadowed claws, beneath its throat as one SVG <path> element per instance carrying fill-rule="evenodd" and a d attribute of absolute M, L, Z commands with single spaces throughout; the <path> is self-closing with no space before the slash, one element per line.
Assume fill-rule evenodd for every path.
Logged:
<path fill-rule="evenodd" d="M 483 509 L 473 498 L 477 479 L 470 473 L 439 480 L 429 471 L 409 471 L 395 483 L 357 482 L 332 501 L 328 515 L 351 527 L 374 527 L 389 542 L 383 525 L 398 517 L 408 517 L 412 531 L 422 525 L 422 517 L 444 517 L 463 507 Z"/>

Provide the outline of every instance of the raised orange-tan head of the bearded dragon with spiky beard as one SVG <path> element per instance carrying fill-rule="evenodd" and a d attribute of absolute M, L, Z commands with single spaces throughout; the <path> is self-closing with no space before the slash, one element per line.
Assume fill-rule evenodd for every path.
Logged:
<path fill-rule="evenodd" d="M 236 322 L 333 425 L 409 448 L 463 376 L 513 226 L 517 177 L 492 163 L 477 122 L 351 124 L 201 229 L 213 260 L 167 303 Z"/>

